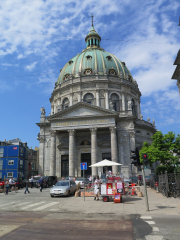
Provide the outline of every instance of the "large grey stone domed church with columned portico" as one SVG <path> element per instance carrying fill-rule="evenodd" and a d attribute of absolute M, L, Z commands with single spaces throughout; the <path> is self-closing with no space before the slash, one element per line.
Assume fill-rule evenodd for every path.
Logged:
<path fill-rule="evenodd" d="M 144 141 L 151 144 L 155 122 L 143 120 L 137 82 L 124 62 L 100 47 L 93 25 L 85 41 L 86 48 L 60 72 L 50 116 L 41 109 L 39 174 L 81 176 L 81 162 L 89 166 L 109 159 L 122 164 L 113 173 L 128 178 L 130 150 Z M 88 168 L 86 175 L 100 170 Z"/>

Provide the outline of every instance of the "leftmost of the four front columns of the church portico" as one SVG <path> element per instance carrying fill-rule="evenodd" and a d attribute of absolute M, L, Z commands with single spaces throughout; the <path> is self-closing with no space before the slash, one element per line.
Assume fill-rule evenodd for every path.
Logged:
<path fill-rule="evenodd" d="M 50 176 L 56 176 L 56 132 L 51 131 Z"/>

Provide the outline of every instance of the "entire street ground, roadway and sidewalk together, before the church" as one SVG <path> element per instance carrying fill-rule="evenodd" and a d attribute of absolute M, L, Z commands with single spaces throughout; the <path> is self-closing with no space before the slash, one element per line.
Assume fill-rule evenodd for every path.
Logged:
<path fill-rule="evenodd" d="M 178 240 L 180 236 L 175 207 L 179 200 L 156 195 L 152 189 L 148 189 L 150 212 L 139 197 L 123 197 L 123 203 L 114 204 L 92 197 L 85 202 L 74 196 L 51 198 L 50 189 L 29 190 L 29 194 L 24 189 L 0 194 L 1 239 Z"/>

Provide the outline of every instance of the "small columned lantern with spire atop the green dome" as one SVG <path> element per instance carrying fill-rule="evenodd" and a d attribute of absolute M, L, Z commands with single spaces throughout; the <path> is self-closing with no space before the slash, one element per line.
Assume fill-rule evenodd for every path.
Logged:
<path fill-rule="evenodd" d="M 91 26 L 90 32 L 88 33 L 88 35 L 85 38 L 86 47 L 100 47 L 101 37 L 94 29 L 93 16 L 91 16 L 91 17 L 92 17 L 92 26 Z"/>

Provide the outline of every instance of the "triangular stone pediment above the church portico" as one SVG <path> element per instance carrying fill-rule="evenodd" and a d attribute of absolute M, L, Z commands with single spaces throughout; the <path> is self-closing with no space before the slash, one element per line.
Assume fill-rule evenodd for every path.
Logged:
<path fill-rule="evenodd" d="M 57 118 L 77 118 L 77 117 L 92 117 L 92 116 L 104 116 L 104 115 L 114 115 L 117 113 L 110 111 L 101 107 L 93 106 L 88 103 L 79 102 L 75 105 L 62 110 L 59 113 L 56 113 L 48 117 L 48 120 L 54 120 Z"/>

